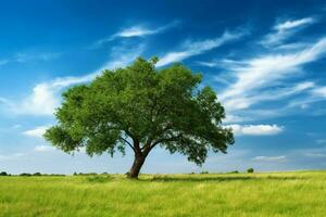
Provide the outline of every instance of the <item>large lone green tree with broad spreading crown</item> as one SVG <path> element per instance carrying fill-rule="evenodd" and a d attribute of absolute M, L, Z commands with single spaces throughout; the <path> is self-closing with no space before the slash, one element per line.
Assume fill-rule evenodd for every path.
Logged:
<path fill-rule="evenodd" d="M 102 75 L 63 93 L 58 125 L 45 138 L 66 153 L 86 148 L 90 156 L 116 151 L 135 153 L 129 178 L 138 178 L 150 151 L 160 145 L 198 165 L 208 151 L 226 153 L 231 129 L 222 126 L 224 107 L 202 76 L 181 64 L 156 69 L 156 58 L 138 58 L 131 65 Z"/>

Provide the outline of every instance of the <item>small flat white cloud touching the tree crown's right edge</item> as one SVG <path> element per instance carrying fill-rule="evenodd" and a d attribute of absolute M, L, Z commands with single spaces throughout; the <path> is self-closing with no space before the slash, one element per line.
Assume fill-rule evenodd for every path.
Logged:
<path fill-rule="evenodd" d="M 228 125 L 236 136 L 273 136 L 284 131 L 277 125 Z"/>

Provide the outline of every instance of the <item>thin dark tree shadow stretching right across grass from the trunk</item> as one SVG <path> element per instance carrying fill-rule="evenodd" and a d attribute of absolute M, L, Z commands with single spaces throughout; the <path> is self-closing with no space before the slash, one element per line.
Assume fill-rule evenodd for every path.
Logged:
<path fill-rule="evenodd" d="M 149 179 L 147 181 L 159 181 L 159 182 L 178 182 L 178 181 L 186 181 L 186 182 L 223 182 L 223 181 L 249 181 L 249 180 L 300 180 L 300 179 L 306 179 L 303 177 L 290 177 L 290 176 L 262 176 L 262 177 L 255 177 L 255 176 L 204 176 L 204 177 L 173 177 L 173 176 L 154 176 L 152 179 Z"/>

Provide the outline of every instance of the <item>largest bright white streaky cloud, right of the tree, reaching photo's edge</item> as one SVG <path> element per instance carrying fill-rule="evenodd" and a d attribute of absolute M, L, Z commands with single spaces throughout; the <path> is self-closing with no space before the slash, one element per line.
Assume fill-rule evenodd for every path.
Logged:
<path fill-rule="evenodd" d="M 321 59 L 325 53 L 326 38 L 321 38 L 304 50 L 281 54 L 267 53 L 242 61 L 242 65 L 236 65 L 229 69 L 235 76 L 236 82 L 222 91 L 220 99 L 224 102 L 227 111 L 231 112 L 308 90 L 323 94 L 323 89 L 317 89 L 312 81 L 299 84 L 285 81 L 301 75 L 305 64 Z"/>

